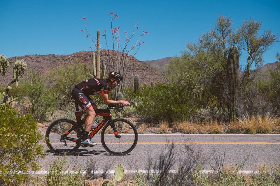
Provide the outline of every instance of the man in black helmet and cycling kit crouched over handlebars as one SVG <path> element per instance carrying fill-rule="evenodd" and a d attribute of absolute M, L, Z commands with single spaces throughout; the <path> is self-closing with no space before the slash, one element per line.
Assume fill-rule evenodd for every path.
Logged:
<path fill-rule="evenodd" d="M 95 102 L 89 97 L 89 95 L 101 94 L 102 99 L 106 105 L 112 104 L 122 104 L 123 106 L 129 106 L 129 102 L 125 100 L 109 100 L 108 93 L 111 88 L 115 88 L 120 85 L 122 77 L 118 72 L 109 72 L 107 79 L 88 79 L 81 83 L 76 84 L 75 88 L 72 90 L 72 97 L 80 105 L 80 107 L 88 114 L 85 119 L 85 128 L 83 138 L 81 140 L 82 144 L 95 146 L 97 143 L 90 141 L 88 138 L 88 133 L 90 132 L 93 120 L 95 118 L 95 110 L 98 109 Z"/>

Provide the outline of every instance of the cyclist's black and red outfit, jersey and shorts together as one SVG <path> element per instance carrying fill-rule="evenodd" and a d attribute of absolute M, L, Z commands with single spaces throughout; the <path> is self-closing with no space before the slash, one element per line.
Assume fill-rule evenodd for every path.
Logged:
<path fill-rule="evenodd" d="M 108 82 L 105 79 L 93 78 L 85 80 L 76 84 L 75 88 L 73 88 L 72 98 L 86 111 L 95 104 L 89 95 L 108 94 L 111 88 L 108 88 L 107 84 Z"/>

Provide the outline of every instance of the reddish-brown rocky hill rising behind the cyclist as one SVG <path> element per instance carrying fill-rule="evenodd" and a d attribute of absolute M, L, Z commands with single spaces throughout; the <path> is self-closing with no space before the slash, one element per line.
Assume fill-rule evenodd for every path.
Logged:
<path fill-rule="evenodd" d="M 103 51 L 104 52 L 104 51 Z M 108 51 L 105 51 L 106 54 Z M 104 54 L 105 54 L 104 52 Z M 96 51 L 95 51 L 96 53 Z M 112 54 L 112 51 L 109 51 Z M 96 54 L 95 54 L 96 56 Z M 140 77 L 140 83 L 150 84 L 153 82 L 167 82 L 166 75 L 163 71 L 157 70 L 146 63 L 143 63 L 136 59 L 135 57 L 131 57 L 131 65 L 129 68 L 129 73 L 136 75 L 138 74 Z M 117 58 L 116 52 L 114 52 L 114 59 Z M 8 58 L 10 62 L 10 67 L 8 68 L 6 75 L 0 76 L 0 86 L 6 86 L 9 82 L 13 80 L 13 65 L 15 62 L 15 57 Z M 27 63 L 27 69 L 23 75 L 24 77 L 29 77 L 29 73 L 31 71 L 35 71 L 36 73 L 44 74 L 49 70 L 57 69 L 59 66 L 68 65 L 74 63 L 76 60 L 78 61 L 88 61 L 88 64 L 92 66 L 92 52 L 80 51 L 70 55 L 25 55 L 17 57 L 18 60 L 24 59 Z M 129 58 L 130 59 L 130 58 Z M 133 84 L 133 78 L 132 78 Z"/>

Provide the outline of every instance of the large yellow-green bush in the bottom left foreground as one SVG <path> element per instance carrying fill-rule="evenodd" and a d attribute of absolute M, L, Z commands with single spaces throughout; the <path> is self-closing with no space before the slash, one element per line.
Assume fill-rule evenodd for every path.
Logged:
<path fill-rule="evenodd" d="M 20 116 L 18 111 L 0 105 L 0 185 L 20 184 L 27 175 L 10 174 L 38 169 L 37 157 L 43 157 L 42 139 L 31 115 Z"/>

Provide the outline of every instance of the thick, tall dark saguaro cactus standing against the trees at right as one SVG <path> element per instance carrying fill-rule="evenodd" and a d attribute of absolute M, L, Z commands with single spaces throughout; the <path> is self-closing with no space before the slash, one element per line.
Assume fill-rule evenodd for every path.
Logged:
<path fill-rule="evenodd" d="M 230 121 L 236 119 L 237 99 L 238 99 L 238 70 L 239 51 L 237 46 L 230 47 L 230 54 L 227 59 L 227 80 L 229 91 L 229 118 Z"/>

